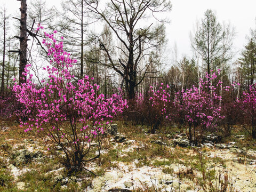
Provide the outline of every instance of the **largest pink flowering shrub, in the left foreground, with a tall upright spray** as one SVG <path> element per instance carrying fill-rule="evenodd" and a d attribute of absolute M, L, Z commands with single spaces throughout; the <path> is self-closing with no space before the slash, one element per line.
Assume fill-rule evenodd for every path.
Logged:
<path fill-rule="evenodd" d="M 52 58 L 51 65 L 44 68 L 48 78 L 39 86 L 33 83 L 33 75 L 30 75 L 27 83 L 15 83 L 13 92 L 25 107 L 18 114 L 25 132 L 34 131 L 48 137 L 65 153 L 60 157 L 61 163 L 70 171 L 81 170 L 86 162 L 100 156 L 106 126 L 114 116 L 122 113 L 126 101 L 116 93 L 108 98 L 98 95 L 99 86 L 92 84 L 93 78 L 84 76 L 76 80 L 70 72 L 76 60 L 63 51 L 63 43 L 54 38 L 55 33 L 57 31 L 45 33 L 43 39 Z M 22 117 L 27 121 L 22 122 Z"/>

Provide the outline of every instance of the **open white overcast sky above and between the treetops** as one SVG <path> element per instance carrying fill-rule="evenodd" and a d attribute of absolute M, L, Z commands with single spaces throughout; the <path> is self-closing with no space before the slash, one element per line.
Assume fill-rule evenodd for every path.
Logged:
<path fill-rule="evenodd" d="M 0 2 L 0 6 L 5 4 L 9 13 L 19 10 L 20 2 L 17 0 L 1 0 Z M 46 0 L 46 2 L 60 8 L 61 0 Z M 207 9 L 215 12 L 219 22 L 230 22 L 235 27 L 234 49 L 237 52 L 243 49 L 246 43 L 245 37 L 249 35 L 250 28 L 256 28 L 256 0 L 172 0 L 171 3 L 173 5 L 169 13 L 171 23 L 166 26 L 166 33 L 170 47 L 177 42 L 180 57 L 191 55 L 190 31 L 193 30 L 196 20 L 203 18 Z M 236 58 L 239 57 L 238 54 L 239 52 Z"/>

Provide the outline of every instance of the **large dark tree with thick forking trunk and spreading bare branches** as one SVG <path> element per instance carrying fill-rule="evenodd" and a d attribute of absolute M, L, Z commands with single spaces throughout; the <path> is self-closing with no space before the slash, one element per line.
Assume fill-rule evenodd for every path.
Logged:
<path fill-rule="evenodd" d="M 165 42 L 165 39 L 158 38 L 165 31 L 163 23 L 155 27 L 153 23 L 142 27 L 142 23 L 146 23 L 149 18 L 165 22 L 165 19 L 157 19 L 155 14 L 170 11 L 171 3 L 165 0 L 110 0 L 104 9 L 100 8 L 99 1 L 86 1 L 86 4 L 95 17 L 106 22 L 116 36 L 117 50 L 122 53 L 117 59 L 109 53 L 102 41 L 100 46 L 108 55 L 108 67 L 122 77 L 121 87 L 125 85 L 127 96 L 132 99 L 135 97 L 135 87 L 143 81 L 150 65 L 150 62 L 146 63 L 141 72 L 139 63 L 150 51 Z M 138 81 L 139 73 L 142 75 Z"/>

